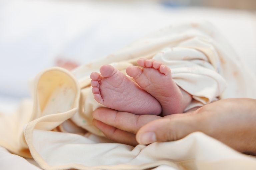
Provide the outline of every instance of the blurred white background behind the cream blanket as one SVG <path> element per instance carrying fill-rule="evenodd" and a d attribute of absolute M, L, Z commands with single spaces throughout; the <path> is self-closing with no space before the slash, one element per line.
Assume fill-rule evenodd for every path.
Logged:
<path fill-rule="evenodd" d="M 254 8 L 245 1 L 250 11 L 244 5 L 240 5 L 243 10 L 196 6 L 220 7 L 222 1 L 218 2 L 2 0 L 0 111 L 1 106 L 28 97 L 28 81 L 59 59 L 87 63 L 177 21 L 213 23 L 256 75 Z M 239 3 L 234 4 L 241 1 L 233 2 L 230 8 L 239 8 Z"/>

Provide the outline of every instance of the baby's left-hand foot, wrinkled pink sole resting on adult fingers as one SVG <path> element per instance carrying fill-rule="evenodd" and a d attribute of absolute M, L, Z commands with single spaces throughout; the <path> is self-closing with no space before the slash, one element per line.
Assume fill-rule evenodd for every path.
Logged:
<path fill-rule="evenodd" d="M 111 65 L 103 65 L 100 73 L 91 73 L 94 99 L 100 104 L 136 115 L 161 113 L 161 105 L 133 80 Z"/>

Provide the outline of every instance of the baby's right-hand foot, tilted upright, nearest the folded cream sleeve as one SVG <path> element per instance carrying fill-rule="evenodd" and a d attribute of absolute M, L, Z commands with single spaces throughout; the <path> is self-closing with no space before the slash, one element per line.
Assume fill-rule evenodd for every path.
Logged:
<path fill-rule="evenodd" d="M 153 59 L 141 58 L 137 62 L 143 69 L 130 66 L 126 69 L 126 73 L 159 101 L 163 116 L 183 113 L 186 107 L 183 94 L 173 81 L 170 68 Z"/>

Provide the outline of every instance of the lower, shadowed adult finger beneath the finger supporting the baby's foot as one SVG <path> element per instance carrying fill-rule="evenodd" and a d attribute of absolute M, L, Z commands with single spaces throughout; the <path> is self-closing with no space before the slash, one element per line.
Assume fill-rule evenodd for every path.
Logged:
<path fill-rule="evenodd" d="M 135 139 L 135 134 L 127 131 L 120 130 L 118 128 L 104 124 L 103 122 L 93 120 L 94 126 L 100 129 L 107 138 L 114 140 L 118 143 L 128 144 L 136 146 L 138 142 Z"/>

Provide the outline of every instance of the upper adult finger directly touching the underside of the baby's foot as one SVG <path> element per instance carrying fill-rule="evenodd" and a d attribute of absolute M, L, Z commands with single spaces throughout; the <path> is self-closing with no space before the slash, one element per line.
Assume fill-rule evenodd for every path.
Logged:
<path fill-rule="evenodd" d="M 109 108 L 99 108 L 93 112 L 93 118 L 115 128 L 136 133 L 143 125 L 162 117 L 156 115 L 134 115 Z"/>

